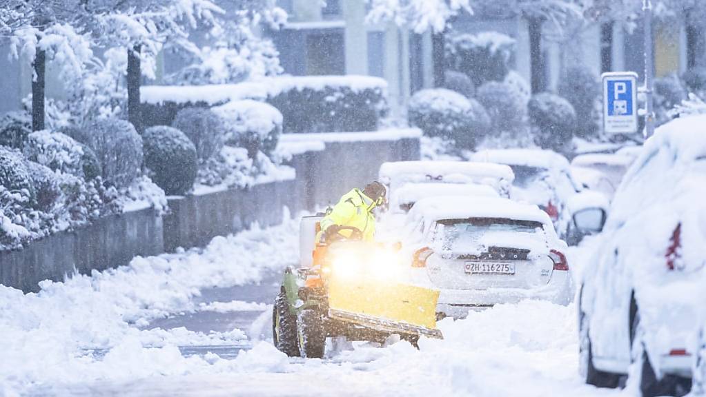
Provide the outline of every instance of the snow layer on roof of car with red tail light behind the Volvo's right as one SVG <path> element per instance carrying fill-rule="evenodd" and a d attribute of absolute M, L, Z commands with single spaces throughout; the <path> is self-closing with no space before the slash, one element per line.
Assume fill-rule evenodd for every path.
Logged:
<path fill-rule="evenodd" d="M 510 166 L 542 169 L 568 169 L 569 161 L 561 154 L 542 149 L 493 149 L 472 154 L 473 161 L 487 161 Z"/>

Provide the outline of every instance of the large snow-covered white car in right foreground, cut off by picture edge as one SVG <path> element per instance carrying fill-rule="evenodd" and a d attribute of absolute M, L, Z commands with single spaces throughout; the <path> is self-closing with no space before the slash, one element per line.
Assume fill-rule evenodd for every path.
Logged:
<path fill-rule="evenodd" d="M 704 126 L 706 115 L 660 127 L 616 192 L 580 287 L 588 384 L 617 387 L 638 360 L 643 396 L 688 388 L 706 313 Z"/>

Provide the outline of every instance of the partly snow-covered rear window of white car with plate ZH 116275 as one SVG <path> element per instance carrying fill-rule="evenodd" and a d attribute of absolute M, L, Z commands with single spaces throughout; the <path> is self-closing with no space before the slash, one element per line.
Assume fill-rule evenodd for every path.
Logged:
<path fill-rule="evenodd" d="M 441 239 L 443 250 L 459 250 L 469 245 L 500 245 L 512 247 L 517 238 L 544 240 L 542 223 L 537 221 L 519 221 L 507 218 L 469 218 L 444 219 L 437 222 L 442 225 Z"/>

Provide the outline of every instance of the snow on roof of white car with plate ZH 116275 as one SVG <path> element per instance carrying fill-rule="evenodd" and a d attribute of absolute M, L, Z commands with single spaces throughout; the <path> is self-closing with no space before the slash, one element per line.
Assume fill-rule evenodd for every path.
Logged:
<path fill-rule="evenodd" d="M 409 211 L 412 221 L 467 218 L 505 218 L 551 225 L 549 215 L 536 205 L 502 197 L 430 197 L 419 200 Z"/>

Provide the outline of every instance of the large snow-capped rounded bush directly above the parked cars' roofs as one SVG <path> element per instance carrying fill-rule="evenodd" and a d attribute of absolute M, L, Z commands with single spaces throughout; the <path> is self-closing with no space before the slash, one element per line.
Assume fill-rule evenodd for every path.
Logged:
<path fill-rule="evenodd" d="M 489 127 L 486 110 L 474 99 L 443 88 L 420 90 L 409 100 L 409 123 L 424 135 L 455 141 L 457 147 L 473 149 Z"/>

